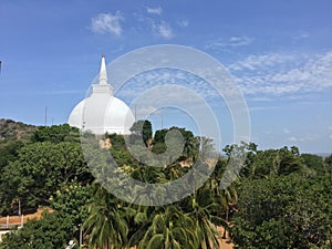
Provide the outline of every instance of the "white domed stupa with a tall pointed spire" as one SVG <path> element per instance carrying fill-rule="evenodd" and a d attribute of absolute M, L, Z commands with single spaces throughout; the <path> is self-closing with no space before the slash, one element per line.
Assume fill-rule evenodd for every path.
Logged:
<path fill-rule="evenodd" d="M 81 131 L 90 131 L 96 135 L 129 134 L 135 122 L 131 108 L 113 95 L 107 82 L 105 56 L 102 55 L 101 72 L 97 84 L 92 84 L 92 93 L 81 101 L 71 112 L 68 123 Z"/>

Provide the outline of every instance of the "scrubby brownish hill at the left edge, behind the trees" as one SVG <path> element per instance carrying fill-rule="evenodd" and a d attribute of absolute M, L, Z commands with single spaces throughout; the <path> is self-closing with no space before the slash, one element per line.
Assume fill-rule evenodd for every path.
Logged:
<path fill-rule="evenodd" d="M 28 141 L 38 129 L 38 126 L 14 122 L 12 120 L 0 120 L 0 143 L 8 141 Z"/>

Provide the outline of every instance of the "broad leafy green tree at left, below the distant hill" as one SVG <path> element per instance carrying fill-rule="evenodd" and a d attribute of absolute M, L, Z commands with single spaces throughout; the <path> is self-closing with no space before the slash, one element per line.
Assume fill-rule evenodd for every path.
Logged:
<path fill-rule="evenodd" d="M 17 198 L 23 210 L 35 209 L 38 205 L 48 205 L 49 197 L 63 184 L 91 180 L 80 144 L 71 142 L 25 145 L 18 158 L 3 168 L 2 177 L 2 212 L 10 211 Z"/>

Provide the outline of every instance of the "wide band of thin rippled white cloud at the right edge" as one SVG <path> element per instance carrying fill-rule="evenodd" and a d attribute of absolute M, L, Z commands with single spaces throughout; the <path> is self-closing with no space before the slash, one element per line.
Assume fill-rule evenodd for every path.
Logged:
<path fill-rule="evenodd" d="M 282 95 L 332 87 L 332 51 L 250 55 L 229 66 L 245 94 Z"/>

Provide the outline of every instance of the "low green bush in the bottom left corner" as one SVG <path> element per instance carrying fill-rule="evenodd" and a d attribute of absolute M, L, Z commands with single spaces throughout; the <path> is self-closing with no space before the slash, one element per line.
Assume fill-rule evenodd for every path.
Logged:
<path fill-rule="evenodd" d="M 73 238 L 73 222 L 66 214 L 44 214 L 6 236 L 0 249 L 60 249 Z"/>

